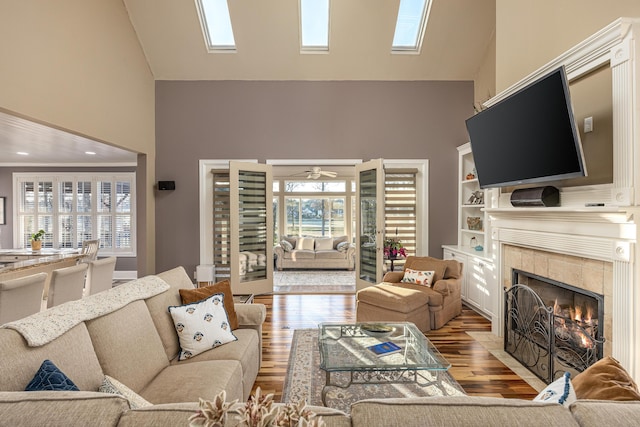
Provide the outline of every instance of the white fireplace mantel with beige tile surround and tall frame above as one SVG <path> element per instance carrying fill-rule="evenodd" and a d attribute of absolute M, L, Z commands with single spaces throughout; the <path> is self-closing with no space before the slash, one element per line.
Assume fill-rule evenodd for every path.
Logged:
<path fill-rule="evenodd" d="M 560 189 L 560 206 L 513 208 L 490 190 L 487 236 L 498 283 L 518 268 L 604 295 L 604 354 L 640 381 L 640 19 L 620 18 L 485 103 L 499 102 L 563 65 L 569 81 L 609 66 L 613 100 L 613 182 Z M 602 207 L 586 207 L 587 203 Z M 503 335 L 497 292 L 494 334 Z"/>

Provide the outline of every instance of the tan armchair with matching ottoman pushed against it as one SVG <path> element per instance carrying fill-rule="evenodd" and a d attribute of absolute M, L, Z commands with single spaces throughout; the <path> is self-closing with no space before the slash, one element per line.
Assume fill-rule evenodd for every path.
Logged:
<path fill-rule="evenodd" d="M 433 271 L 432 286 L 403 283 L 406 269 Z M 385 274 L 383 283 L 358 292 L 358 321 L 413 321 L 422 331 L 440 329 L 462 312 L 462 263 L 407 257 L 403 271 Z M 402 289 L 402 290 L 400 290 Z"/>

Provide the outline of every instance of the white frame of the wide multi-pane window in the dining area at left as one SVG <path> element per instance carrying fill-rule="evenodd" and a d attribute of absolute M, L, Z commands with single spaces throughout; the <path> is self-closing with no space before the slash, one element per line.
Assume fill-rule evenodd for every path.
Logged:
<path fill-rule="evenodd" d="M 34 182 L 36 183 L 36 188 L 37 188 L 37 183 L 38 182 L 53 182 L 53 208 L 52 208 L 52 212 L 51 213 L 47 213 L 47 215 L 52 217 L 52 228 L 53 228 L 53 236 L 54 236 L 54 240 L 53 240 L 53 247 L 54 248 L 59 248 L 59 242 L 58 242 L 58 219 L 60 215 L 71 215 L 73 217 L 77 217 L 77 215 L 79 215 L 79 213 L 77 211 L 72 211 L 72 212 L 65 212 L 65 213 L 61 213 L 60 210 L 58 209 L 58 202 L 59 202 L 59 188 L 57 183 L 59 182 L 73 182 L 74 184 L 78 181 L 82 181 L 82 182 L 91 182 L 91 212 L 90 212 L 90 216 L 91 216 L 91 223 L 92 223 L 92 230 L 96 230 L 97 229 L 97 223 L 98 223 L 98 216 L 105 216 L 105 215 L 111 215 L 112 218 L 115 218 L 116 215 L 122 216 L 122 215 L 127 215 L 126 213 L 116 213 L 114 212 L 98 212 L 97 209 L 97 203 L 99 200 L 98 197 L 98 186 L 96 185 L 97 182 L 111 182 L 112 183 L 112 192 L 115 191 L 116 188 L 116 182 L 123 182 L 126 181 L 129 183 L 130 185 L 130 204 L 131 204 L 131 210 L 129 212 L 129 216 L 130 216 L 130 224 L 131 224 L 131 230 L 130 230 L 130 234 L 131 234 L 131 247 L 128 248 L 124 248 L 124 249 L 119 249 L 115 247 L 115 243 L 116 243 L 116 233 L 115 233 L 115 220 L 112 220 L 112 247 L 111 248 L 100 248 L 100 255 L 104 255 L 104 256 L 118 256 L 118 257 L 135 257 L 136 256 L 136 174 L 135 172 L 115 172 L 115 173 L 103 173 L 103 174 L 96 174 L 94 172 L 63 172 L 63 173 L 59 173 L 59 172 L 38 172 L 38 173 L 23 173 L 23 172 L 16 172 L 13 174 L 13 218 L 14 220 L 14 224 L 13 224 L 13 246 L 15 248 L 22 248 L 24 246 L 24 242 L 22 241 L 22 231 L 21 231 L 21 218 L 22 216 L 26 216 L 26 215 L 34 215 L 35 219 L 36 219 L 36 224 L 37 222 L 37 218 L 38 218 L 38 212 L 37 212 L 37 202 L 36 203 L 36 209 L 35 212 L 21 212 L 20 211 L 20 200 L 21 200 L 21 194 L 20 192 L 22 191 L 21 189 L 21 183 L 22 182 Z M 113 193 L 112 193 L 112 197 L 113 197 Z M 77 197 L 77 186 L 74 185 L 74 199 L 75 197 Z M 86 213 L 80 213 L 81 215 L 86 215 Z M 77 221 L 74 221 L 74 223 Z M 98 236 L 92 236 L 92 238 L 94 239 L 98 239 Z M 75 242 L 78 247 L 80 247 L 82 245 L 82 242 Z"/>

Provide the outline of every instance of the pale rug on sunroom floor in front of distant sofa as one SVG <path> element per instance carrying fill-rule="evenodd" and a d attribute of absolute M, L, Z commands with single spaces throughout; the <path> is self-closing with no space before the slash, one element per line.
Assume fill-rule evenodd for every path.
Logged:
<path fill-rule="evenodd" d="M 354 293 L 356 275 L 347 270 L 285 270 L 273 272 L 275 293 Z"/>

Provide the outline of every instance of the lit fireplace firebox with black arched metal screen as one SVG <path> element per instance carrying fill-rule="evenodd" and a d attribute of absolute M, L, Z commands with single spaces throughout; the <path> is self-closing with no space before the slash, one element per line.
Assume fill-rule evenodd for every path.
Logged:
<path fill-rule="evenodd" d="M 602 358 L 604 298 L 522 270 L 505 289 L 504 349 L 547 384 Z"/>

